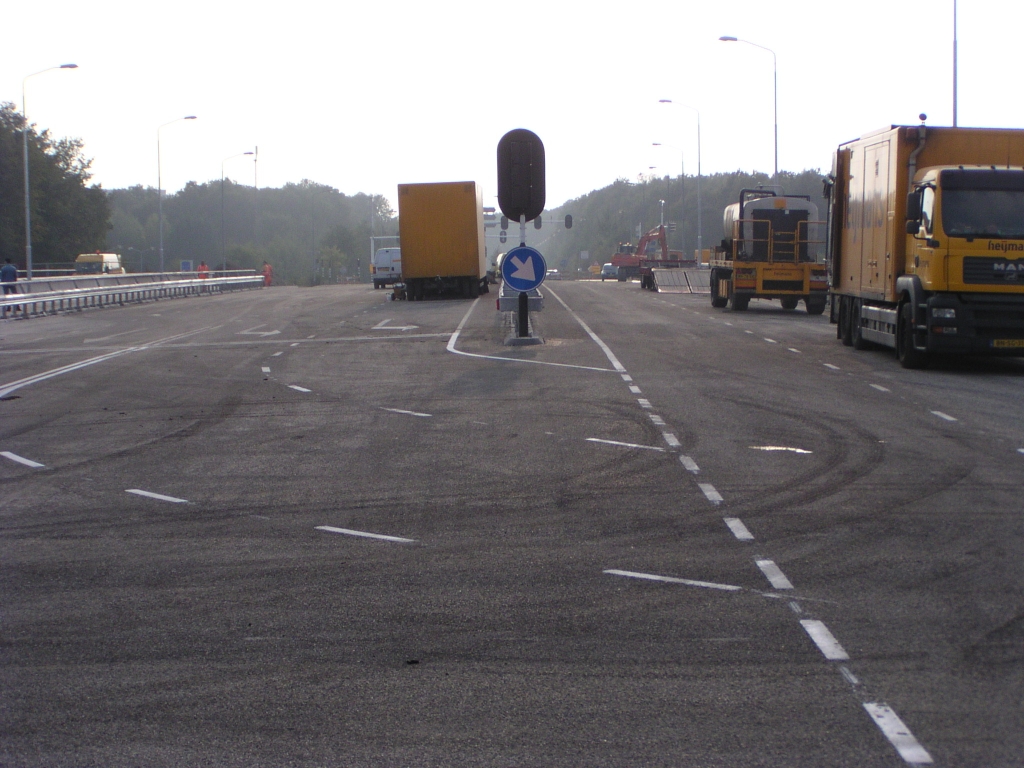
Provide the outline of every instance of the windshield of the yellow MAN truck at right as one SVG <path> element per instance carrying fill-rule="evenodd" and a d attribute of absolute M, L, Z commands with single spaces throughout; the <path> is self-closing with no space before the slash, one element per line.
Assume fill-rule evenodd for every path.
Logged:
<path fill-rule="evenodd" d="M 1024 172 L 942 172 L 942 228 L 951 238 L 1024 240 Z"/>

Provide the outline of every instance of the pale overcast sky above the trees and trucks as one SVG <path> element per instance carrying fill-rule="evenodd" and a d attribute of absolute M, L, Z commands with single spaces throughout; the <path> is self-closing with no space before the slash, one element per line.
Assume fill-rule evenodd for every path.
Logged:
<path fill-rule="evenodd" d="M 700 164 L 828 168 L 840 141 L 952 121 L 952 0 L 8 3 L 0 100 L 84 140 L 116 188 L 219 179 L 259 147 L 260 186 L 309 178 L 395 200 L 402 182 L 476 180 L 496 204 L 513 128 L 547 150 L 547 202 Z M 958 5 L 962 126 L 1024 126 L 1024 3 Z M 652 146 L 662 142 L 665 147 Z M 654 169 L 651 170 L 651 166 Z M 227 176 L 254 182 L 252 158 Z"/>

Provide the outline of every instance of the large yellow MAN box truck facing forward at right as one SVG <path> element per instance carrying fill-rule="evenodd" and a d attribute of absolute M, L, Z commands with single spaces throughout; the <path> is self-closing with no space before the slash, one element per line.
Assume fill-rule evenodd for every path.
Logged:
<path fill-rule="evenodd" d="M 1024 355 L 1024 131 L 885 128 L 839 146 L 826 188 L 844 344 Z"/>

